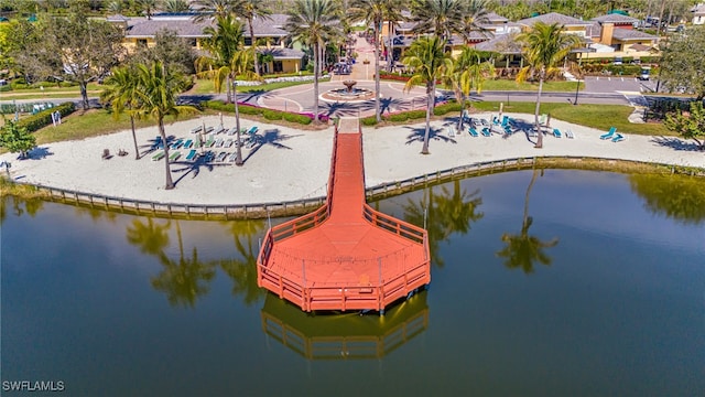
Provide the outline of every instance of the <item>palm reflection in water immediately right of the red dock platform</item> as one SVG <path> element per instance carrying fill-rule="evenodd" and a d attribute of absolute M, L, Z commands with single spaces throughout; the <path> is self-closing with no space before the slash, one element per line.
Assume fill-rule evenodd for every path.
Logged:
<path fill-rule="evenodd" d="M 447 185 L 442 185 L 441 193 L 437 194 L 434 187 L 437 186 L 426 189 L 420 202 L 410 198 L 403 210 L 404 221 L 411 224 L 423 227 L 425 218 L 431 262 L 442 268 L 444 261 L 438 255 L 438 244 L 447 242 L 454 233 L 467 234 L 471 224 L 481 219 L 485 214 L 477 210 L 482 204 L 479 189 L 468 194 L 460 189 L 459 180 L 453 182 L 453 192 Z"/>

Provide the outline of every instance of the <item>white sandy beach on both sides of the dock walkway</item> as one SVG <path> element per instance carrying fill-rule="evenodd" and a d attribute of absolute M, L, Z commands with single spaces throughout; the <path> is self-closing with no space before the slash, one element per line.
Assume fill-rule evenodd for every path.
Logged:
<path fill-rule="evenodd" d="M 532 115 L 507 114 L 530 122 Z M 491 118 L 490 114 L 474 117 Z M 224 127 L 235 126 L 234 117 L 224 117 Z M 378 184 L 419 176 L 454 167 L 518 157 L 577 155 L 649 161 L 705 169 L 705 153 L 693 142 L 675 137 L 625 135 L 626 140 L 600 140 L 605 131 L 551 120 L 551 128 L 571 130 L 575 138 L 544 137 L 544 148 L 534 149 L 523 132 L 503 137 L 449 136 L 451 119 L 433 122 L 436 133 L 431 139 L 431 154 L 422 155 L 424 124 L 384 128 L 364 128 L 366 183 Z M 217 116 L 178 121 L 166 126 L 167 136 L 196 139 L 191 130 L 202 126 L 217 127 Z M 12 163 L 11 176 L 18 182 L 42 184 L 107 196 L 174 204 L 257 204 L 291 202 L 325 195 L 334 128 L 311 131 L 241 120 L 242 127 L 259 128 L 260 144 L 243 149 L 242 167 L 232 163 L 209 165 L 203 161 L 185 161 L 188 150 L 172 164 L 176 187 L 164 190 L 164 162 L 153 161 L 154 152 L 134 160 L 131 131 L 42 144 L 31 159 L 18 160 L 17 153 L 0 155 L 0 162 Z M 137 131 L 141 151 L 147 151 L 158 136 L 156 127 Z M 219 137 L 228 138 L 226 135 Z M 232 138 L 232 137 L 230 137 Z M 534 138 L 535 139 L 535 138 Z M 102 159 L 108 149 L 112 158 Z M 117 155 L 118 150 L 128 155 Z M 214 148 L 214 151 L 235 149 Z"/>

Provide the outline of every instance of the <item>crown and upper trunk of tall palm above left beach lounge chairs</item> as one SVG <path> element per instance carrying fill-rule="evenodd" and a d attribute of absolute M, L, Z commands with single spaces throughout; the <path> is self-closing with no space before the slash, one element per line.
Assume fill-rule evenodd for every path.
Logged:
<path fill-rule="evenodd" d="M 210 55 L 203 55 L 196 60 L 196 72 L 199 76 L 213 78 L 218 93 L 225 83 L 226 103 L 229 104 L 232 99 L 234 81 L 230 62 L 245 43 L 242 23 L 230 15 L 218 17 L 216 26 L 206 26 L 203 32 L 209 35 L 204 40 L 204 47 Z"/>

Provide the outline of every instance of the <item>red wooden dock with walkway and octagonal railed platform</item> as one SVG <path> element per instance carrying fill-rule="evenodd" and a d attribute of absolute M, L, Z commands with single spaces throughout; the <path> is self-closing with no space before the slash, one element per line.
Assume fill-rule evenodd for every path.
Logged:
<path fill-rule="evenodd" d="M 365 202 L 359 120 L 336 128 L 326 204 L 268 230 L 258 285 L 312 310 L 377 310 L 431 282 L 426 230 Z"/>

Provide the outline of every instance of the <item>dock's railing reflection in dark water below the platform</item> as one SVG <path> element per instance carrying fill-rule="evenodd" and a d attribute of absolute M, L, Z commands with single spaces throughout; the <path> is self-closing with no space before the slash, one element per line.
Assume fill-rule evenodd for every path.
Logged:
<path fill-rule="evenodd" d="M 312 315 L 267 294 L 262 331 L 307 360 L 381 358 L 429 328 L 427 292 L 390 308 L 384 315 Z"/>

